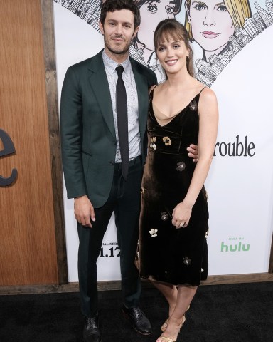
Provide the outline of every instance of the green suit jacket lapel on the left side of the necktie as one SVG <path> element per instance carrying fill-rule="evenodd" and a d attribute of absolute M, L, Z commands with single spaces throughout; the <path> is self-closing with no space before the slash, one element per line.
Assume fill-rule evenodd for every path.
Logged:
<path fill-rule="evenodd" d="M 105 119 L 105 124 L 109 128 L 113 138 L 116 139 L 112 100 L 105 72 L 105 66 L 102 61 L 102 51 L 92 58 L 89 70 L 90 86 L 92 87 L 97 103 L 100 106 L 102 116 Z"/>

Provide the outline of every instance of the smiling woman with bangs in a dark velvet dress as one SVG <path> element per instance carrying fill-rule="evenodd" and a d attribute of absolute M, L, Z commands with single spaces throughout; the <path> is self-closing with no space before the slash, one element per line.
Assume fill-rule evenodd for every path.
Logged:
<path fill-rule="evenodd" d="M 213 90 L 193 78 L 187 31 L 176 19 L 154 33 L 167 79 L 150 92 L 148 156 L 141 186 L 139 272 L 169 305 L 156 342 L 174 342 L 201 280 L 208 275 L 208 175 L 218 128 Z M 193 163 L 186 147 L 198 145 Z"/>

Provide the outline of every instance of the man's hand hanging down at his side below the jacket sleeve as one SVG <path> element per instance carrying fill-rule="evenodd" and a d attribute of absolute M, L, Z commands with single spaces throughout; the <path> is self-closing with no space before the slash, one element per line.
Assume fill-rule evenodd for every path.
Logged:
<path fill-rule="evenodd" d="M 95 221 L 95 212 L 94 207 L 86 195 L 74 199 L 74 214 L 75 219 L 82 226 L 92 228 L 91 221 Z"/>

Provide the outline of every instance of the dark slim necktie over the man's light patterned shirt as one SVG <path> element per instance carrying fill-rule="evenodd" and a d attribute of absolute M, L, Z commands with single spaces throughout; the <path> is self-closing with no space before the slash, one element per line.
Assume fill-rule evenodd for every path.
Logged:
<path fill-rule="evenodd" d="M 119 149 L 122 157 L 122 177 L 127 180 L 129 167 L 128 117 L 127 95 L 122 80 L 123 66 L 117 66 L 117 130 L 119 135 Z"/>

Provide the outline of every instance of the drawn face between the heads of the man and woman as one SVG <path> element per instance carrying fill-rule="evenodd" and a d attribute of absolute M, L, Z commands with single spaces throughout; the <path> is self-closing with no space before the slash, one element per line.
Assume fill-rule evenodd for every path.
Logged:
<path fill-rule="evenodd" d="M 137 38 L 151 51 L 154 51 L 154 31 L 159 21 L 174 18 L 175 1 L 154 0 L 140 6 L 141 25 Z"/>

